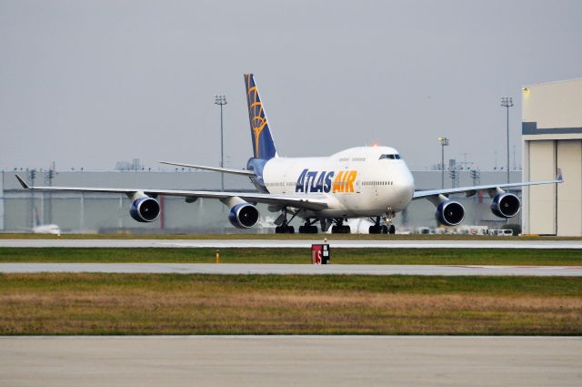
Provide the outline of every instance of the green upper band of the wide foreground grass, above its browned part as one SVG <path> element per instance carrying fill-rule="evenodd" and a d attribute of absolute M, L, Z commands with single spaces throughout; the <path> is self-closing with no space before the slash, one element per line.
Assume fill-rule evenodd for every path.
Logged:
<path fill-rule="evenodd" d="M 41 273 L 0 274 L 0 292 L 147 289 L 188 290 L 203 286 L 208 293 L 224 290 L 365 291 L 386 294 L 494 294 L 497 296 L 581 297 L 577 277 L 477 277 L 477 276 L 366 276 L 366 275 L 218 275 L 218 274 L 109 274 Z M 582 327 L 581 327 L 582 328 Z"/>

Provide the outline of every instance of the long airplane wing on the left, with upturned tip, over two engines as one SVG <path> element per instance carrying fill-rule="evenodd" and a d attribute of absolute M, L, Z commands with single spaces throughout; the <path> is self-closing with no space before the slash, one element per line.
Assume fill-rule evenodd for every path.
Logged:
<path fill-rule="evenodd" d="M 186 199 L 209 198 L 228 199 L 240 198 L 249 202 L 284 205 L 297 209 L 326 209 L 327 199 L 325 196 L 314 196 L 313 194 L 263 194 L 255 192 L 225 192 L 225 191 L 204 191 L 188 189 L 149 189 L 149 188 L 92 188 L 92 187 L 32 187 L 23 178 L 16 175 L 16 178 L 25 189 L 35 189 L 40 191 L 61 191 L 61 192 L 103 192 L 103 193 L 123 193 L 132 197 L 135 192 L 143 192 L 147 196 L 156 197 L 158 195 L 183 197 Z"/>

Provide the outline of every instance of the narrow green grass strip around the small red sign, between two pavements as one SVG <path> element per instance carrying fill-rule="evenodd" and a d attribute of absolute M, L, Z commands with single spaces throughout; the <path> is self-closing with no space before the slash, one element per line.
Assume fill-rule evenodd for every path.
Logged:
<path fill-rule="evenodd" d="M 212 263 L 215 249 L 0 248 L 0 262 Z M 221 249 L 222 263 L 310 263 L 309 249 Z M 581 250 L 333 249 L 335 264 L 580 266 Z"/>

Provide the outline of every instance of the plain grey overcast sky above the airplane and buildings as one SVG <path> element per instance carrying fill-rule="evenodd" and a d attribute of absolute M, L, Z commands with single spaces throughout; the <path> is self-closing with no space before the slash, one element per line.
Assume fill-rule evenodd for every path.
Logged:
<path fill-rule="evenodd" d="M 252 72 L 283 156 L 521 158 L 521 87 L 582 76 L 581 1 L 0 0 L 0 168 L 251 155 Z M 512 149 L 513 153 L 513 149 Z M 511 161 L 513 165 L 513 158 Z"/>

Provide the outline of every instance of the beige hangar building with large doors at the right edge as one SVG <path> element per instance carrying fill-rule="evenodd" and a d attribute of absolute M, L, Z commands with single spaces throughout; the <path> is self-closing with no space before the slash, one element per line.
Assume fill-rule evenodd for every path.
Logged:
<path fill-rule="evenodd" d="M 561 184 L 524 188 L 527 234 L 582 236 L 582 78 L 523 87 L 524 178 Z"/>

